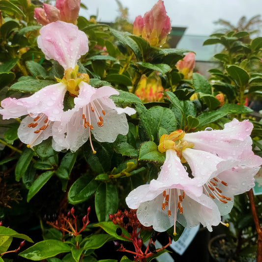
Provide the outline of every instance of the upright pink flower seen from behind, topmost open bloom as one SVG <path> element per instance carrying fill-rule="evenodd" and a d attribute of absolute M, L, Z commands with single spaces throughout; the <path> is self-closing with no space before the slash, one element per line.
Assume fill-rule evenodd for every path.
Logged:
<path fill-rule="evenodd" d="M 66 70 L 74 68 L 77 60 L 88 52 L 87 35 L 77 26 L 62 21 L 40 29 L 37 38 L 46 59 L 55 59 Z"/>

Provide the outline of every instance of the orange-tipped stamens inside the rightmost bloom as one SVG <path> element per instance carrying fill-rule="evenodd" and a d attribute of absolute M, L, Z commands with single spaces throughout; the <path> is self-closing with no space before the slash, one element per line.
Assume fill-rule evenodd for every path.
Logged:
<path fill-rule="evenodd" d="M 221 185 L 219 186 L 218 184 L 222 184 L 223 186 L 228 186 L 228 184 L 225 181 L 220 180 L 219 178 L 213 177 L 212 179 L 210 179 L 208 182 L 204 184 L 204 192 L 210 198 L 217 199 L 220 202 L 227 204 L 228 201 L 232 200 L 232 198 L 228 198 L 224 196 L 222 194 L 223 190 L 220 187 Z"/>

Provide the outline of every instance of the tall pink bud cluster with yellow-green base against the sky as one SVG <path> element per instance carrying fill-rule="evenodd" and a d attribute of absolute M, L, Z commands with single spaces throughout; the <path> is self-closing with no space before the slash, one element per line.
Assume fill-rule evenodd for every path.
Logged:
<path fill-rule="evenodd" d="M 151 46 L 161 47 L 171 31 L 170 18 L 162 0 L 142 16 L 137 16 L 133 23 L 133 34 L 142 35 Z"/>

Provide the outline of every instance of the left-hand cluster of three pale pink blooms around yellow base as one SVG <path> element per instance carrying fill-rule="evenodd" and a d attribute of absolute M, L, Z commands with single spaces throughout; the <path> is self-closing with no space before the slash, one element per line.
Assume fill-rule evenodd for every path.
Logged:
<path fill-rule="evenodd" d="M 88 138 L 91 143 L 91 132 L 99 142 L 114 142 L 118 134 L 126 135 L 125 113 L 133 115 L 135 110 L 116 107 L 109 97 L 118 91 L 91 87 L 88 75 L 77 72 L 78 59 L 88 52 L 87 35 L 73 24 L 57 21 L 40 29 L 37 43 L 47 59 L 57 60 L 64 68 L 64 77 L 29 97 L 2 100 L 3 119 L 27 115 L 18 129 L 20 140 L 33 147 L 52 136 L 55 150 L 76 151 Z M 67 91 L 75 97 L 75 107 L 64 112 Z"/>

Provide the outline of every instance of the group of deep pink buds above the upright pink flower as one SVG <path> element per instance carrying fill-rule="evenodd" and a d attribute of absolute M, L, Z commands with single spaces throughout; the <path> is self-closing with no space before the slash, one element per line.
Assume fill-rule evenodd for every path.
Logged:
<path fill-rule="evenodd" d="M 36 21 L 45 26 L 58 20 L 66 23 L 77 24 L 81 0 L 57 0 L 56 6 L 44 3 L 44 8 L 35 8 Z"/>

